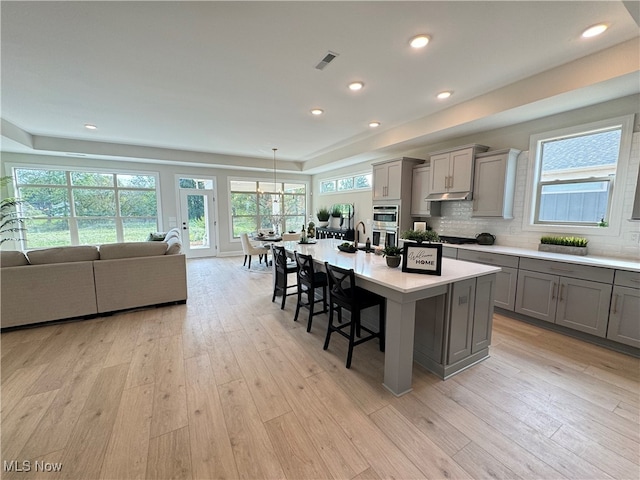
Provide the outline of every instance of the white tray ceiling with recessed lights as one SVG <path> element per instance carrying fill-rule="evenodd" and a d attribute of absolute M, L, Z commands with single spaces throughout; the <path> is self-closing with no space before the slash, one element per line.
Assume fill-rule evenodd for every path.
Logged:
<path fill-rule="evenodd" d="M 625 5 L 2 1 L 2 150 L 317 173 L 639 92 Z"/>

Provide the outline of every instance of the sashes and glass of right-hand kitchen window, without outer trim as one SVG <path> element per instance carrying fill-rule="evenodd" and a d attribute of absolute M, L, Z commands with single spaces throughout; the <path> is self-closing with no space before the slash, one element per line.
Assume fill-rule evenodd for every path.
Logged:
<path fill-rule="evenodd" d="M 537 143 L 534 224 L 597 226 L 611 214 L 622 126 Z"/>

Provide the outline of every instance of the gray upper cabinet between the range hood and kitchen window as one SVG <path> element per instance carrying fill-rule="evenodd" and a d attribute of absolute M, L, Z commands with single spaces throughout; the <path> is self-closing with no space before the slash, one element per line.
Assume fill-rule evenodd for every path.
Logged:
<path fill-rule="evenodd" d="M 508 148 L 476 155 L 472 216 L 513 218 L 519 153 Z"/>

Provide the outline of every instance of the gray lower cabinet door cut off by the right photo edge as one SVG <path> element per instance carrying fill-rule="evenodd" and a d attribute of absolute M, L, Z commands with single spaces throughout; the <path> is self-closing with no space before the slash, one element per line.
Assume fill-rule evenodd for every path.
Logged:
<path fill-rule="evenodd" d="M 607 338 L 640 348 L 640 273 L 616 270 Z"/>

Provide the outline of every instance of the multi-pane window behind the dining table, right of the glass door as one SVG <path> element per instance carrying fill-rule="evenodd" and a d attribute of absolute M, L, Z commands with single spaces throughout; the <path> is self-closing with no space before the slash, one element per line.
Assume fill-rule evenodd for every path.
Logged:
<path fill-rule="evenodd" d="M 306 224 L 304 183 L 231 180 L 229 191 L 233 238 L 260 229 L 298 231 Z"/>

